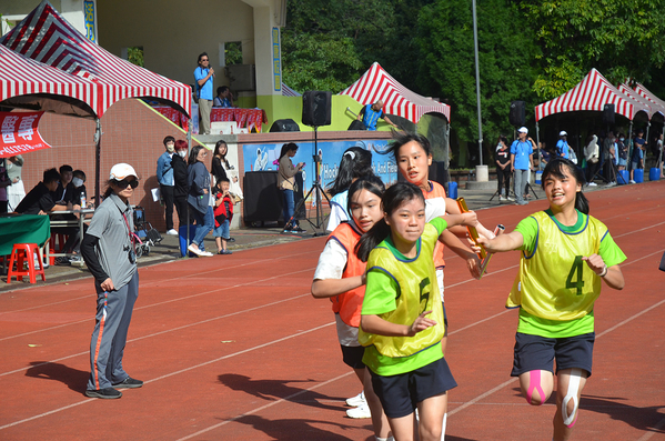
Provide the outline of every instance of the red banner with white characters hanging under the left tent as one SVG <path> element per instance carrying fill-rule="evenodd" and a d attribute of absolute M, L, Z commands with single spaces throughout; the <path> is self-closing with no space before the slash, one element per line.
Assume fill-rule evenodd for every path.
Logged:
<path fill-rule="evenodd" d="M 0 158 L 50 149 L 39 133 L 44 112 L 0 112 Z"/>

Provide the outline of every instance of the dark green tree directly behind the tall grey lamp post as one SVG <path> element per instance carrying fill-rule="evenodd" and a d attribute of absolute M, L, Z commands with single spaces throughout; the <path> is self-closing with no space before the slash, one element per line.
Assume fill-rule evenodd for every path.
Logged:
<path fill-rule="evenodd" d="M 531 67 L 537 53 L 534 34 L 517 7 L 507 0 L 477 3 L 478 58 L 484 158 L 500 133 L 511 133 L 510 103 L 535 104 Z M 468 0 L 439 0 L 424 7 L 417 21 L 419 84 L 451 104 L 451 130 L 461 141 L 477 140 L 473 14 Z M 528 116 L 528 114 L 527 114 Z M 454 144 L 454 142 L 452 142 Z M 473 150 L 476 151 L 476 150 Z M 484 160 L 484 163 L 488 161 Z"/>

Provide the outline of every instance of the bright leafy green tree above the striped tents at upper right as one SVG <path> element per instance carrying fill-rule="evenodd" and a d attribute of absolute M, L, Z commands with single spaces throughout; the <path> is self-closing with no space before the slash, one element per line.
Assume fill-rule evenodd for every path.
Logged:
<path fill-rule="evenodd" d="M 526 0 L 542 54 L 534 90 L 543 100 L 573 88 L 592 68 L 612 83 L 648 81 L 665 61 L 664 0 Z"/>

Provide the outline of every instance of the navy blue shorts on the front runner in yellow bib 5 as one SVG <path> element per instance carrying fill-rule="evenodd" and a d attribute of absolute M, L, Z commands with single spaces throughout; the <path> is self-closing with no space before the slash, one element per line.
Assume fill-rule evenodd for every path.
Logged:
<path fill-rule="evenodd" d="M 406 417 L 423 400 L 457 387 L 444 358 L 412 372 L 382 377 L 372 370 L 372 385 L 387 418 Z"/>

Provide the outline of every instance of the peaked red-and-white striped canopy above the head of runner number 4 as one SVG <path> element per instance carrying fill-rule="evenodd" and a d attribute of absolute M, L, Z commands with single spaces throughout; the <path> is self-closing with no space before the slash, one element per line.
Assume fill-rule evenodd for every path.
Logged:
<path fill-rule="evenodd" d="M 614 111 L 631 121 L 637 112 L 644 111 L 647 114 L 651 112 L 648 106 L 622 93 L 601 72 L 592 69 L 573 89 L 553 100 L 536 106 L 536 121 L 554 113 L 583 110 L 602 112 L 605 104 L 614 104 Z"/>

